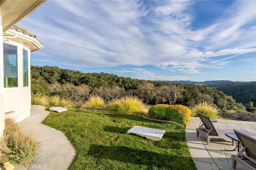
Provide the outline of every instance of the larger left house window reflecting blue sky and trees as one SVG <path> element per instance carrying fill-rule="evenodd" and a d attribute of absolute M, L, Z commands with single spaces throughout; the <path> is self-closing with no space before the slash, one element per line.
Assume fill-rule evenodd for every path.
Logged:
<path fill-rule="evenodd" d="M 4 87 L 18 87 L 17 46 L 4 43 Z"/>

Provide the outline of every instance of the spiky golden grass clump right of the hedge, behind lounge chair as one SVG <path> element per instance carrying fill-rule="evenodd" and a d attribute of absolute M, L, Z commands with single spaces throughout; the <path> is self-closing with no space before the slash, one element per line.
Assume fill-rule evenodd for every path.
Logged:
<path fill-rule="evenodd" d="M 191 116 L 194 116 L 194 117 L 198 116 L 197 112 L 207 115 L 208 117 L 211 117 L 211 118 L 216 118 L 216 115 L 218 115 L 219 113 L 217 109 L 212 107 L 212 104 L 207 104 L 207 102 L 196 104 L 191 109 Z"/>

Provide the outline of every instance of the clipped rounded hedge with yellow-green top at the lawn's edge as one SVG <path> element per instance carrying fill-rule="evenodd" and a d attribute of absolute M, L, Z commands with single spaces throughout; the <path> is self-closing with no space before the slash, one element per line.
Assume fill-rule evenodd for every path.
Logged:
<path fill-rule="evenodd" d="M 182 105 L 157 104 L 148 110 L 149 118 L 169 120 L 184 125 L 188 124 L 190 116 L 190 109 Z"/>

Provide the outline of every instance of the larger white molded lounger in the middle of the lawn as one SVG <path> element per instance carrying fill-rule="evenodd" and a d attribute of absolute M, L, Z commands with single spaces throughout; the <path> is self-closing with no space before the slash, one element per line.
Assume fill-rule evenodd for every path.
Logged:
<path fill-rule="evenodd" d="M 134 126 L 129 129 L 127 133 L 134 133 L 136 135 L 146 137 L 147 139 L 150 139 L 152 141 L 159 141 L 163 137 L 165 130 Z"/>

